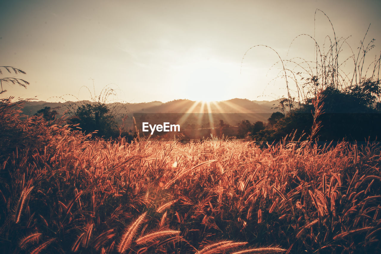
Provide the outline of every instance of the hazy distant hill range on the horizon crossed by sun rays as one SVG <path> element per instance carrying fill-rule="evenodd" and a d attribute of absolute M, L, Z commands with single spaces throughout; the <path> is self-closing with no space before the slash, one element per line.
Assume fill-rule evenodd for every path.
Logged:
<path fill-rule="evenodd" d="M 26 101 L 23 114 L 31 116 L 45 106 L 55 109 L 59 116 L 67 109 L 75 109 L 76 105 L 89 103 L 90 101 L 67 101 L 64 103 L 51 103 L 46 101 Z M 133 114 L 149 114 L 149 113 L 213 113 L 215 125 L 219 120 L 223 120 L 226 124 L 237 125 L 242 120 L 250 122 L 263 121 L 267 122 L 269 116 L 276 112 L 274 106 L 277 101 L 251 101 L 247 99 L 234 98 L 226 101 L 215 101 L 211 103 L 195 102 L 191 100 L 173 100 L 166 103 L 160 101 L 152 101 L 146 103 L 110 103 L 117 114 L 117 121 L 121 122 L 123 114 L 128 115 L 127 124 L 131 124 Z M 190 118 L 191 119 L 191 118 Z"/>

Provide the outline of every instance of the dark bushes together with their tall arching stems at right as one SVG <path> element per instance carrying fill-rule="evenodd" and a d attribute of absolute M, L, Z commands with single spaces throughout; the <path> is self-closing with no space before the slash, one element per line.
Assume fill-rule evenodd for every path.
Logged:
<path fill-rule="evenodd" d="M 314 61 L 300 57 L 284 60 L 265 45 L 249 49 L 264 46 L 274 51 L 282 65 L 278 77 L 285 80 L 287 87 L 287 98 L 280 99 L 276 107 L 285 117 L 279 121 L 269 119 L 267 128 L 253 137 L 258 144 L 278 142 L 290 133 L 294 133 L 297 139 L 319 138 L 323 142 L 376 140 L 381 135 L 378 127 L 381 124 L 381 53 L 369 65 L 365 61 L 369 51 L 375 47 L 375 40 L 368 44 L 364 42 L 367 31 L 356 55 L 347 43 L 348 38 L 336 37 L 328 16 L 319 9 L 315 16 L 319 13 L 330 22 L 334 37 L 327 35 L 323 45 L 307 34 L 300 34 L 294 39 L 307 37 L 314 42 Z M 351 54 L 343 57 L 345 50 Z M 352 72 L 347 71 L 349 61 L 353 61 Z"/>

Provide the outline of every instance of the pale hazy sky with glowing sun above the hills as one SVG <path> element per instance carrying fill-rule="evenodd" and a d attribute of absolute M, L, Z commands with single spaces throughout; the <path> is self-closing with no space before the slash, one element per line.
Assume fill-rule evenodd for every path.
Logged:
<path fill-rule="evenodd" d="M 1 96 L 88 100 L 110 88 L 109 102 L 275 100 L 287 93 L 279 57 L 314 60 L 314 41 L 293 39 L 324 48 L 334 37 L 317 8 L 356 52 L 371 24 L 368 54 L 380 54 L 379 0 L 3 1 L 0 66 L 27 74 L 0 77 L 30 85 L 5 84 Z"/>

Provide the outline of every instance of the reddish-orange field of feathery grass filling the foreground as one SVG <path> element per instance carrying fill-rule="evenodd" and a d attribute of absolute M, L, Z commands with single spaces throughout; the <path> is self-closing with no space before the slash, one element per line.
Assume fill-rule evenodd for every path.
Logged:
<path fill-rule="evenodd" d="M 4 253 L 381 252 L 380 146 L 91 140 L 0 108 Z"/>

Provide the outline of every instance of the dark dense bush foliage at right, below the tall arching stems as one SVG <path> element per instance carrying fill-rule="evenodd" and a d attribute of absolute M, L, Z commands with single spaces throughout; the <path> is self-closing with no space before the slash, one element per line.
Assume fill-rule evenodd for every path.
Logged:
<path fill-rule="evenodd" d="M 337 142 L 346 138 L 348 141 L 361 142 L 381 137 L 381 114 L 373 108 L 375 96 L 372 93 L 365 89 L 359 90 L 358 87 L 345 91 L 327 87 L 320 92 L 320 110 L 323 113 L 316 119 L 322 126 L 318 132 L 319 140 Z M 272 143 L 295 132 L 296 138 L 304 135 L 302 140 L 305 140 L 311 134 L 314 111 L 313 99 L 306 100 L 293 113 L 288 113 L 275 124 L 269 125 L 268 130 L 259 132 L 254 138 L 258 144 Z"/>

